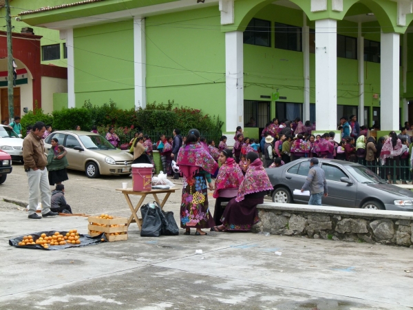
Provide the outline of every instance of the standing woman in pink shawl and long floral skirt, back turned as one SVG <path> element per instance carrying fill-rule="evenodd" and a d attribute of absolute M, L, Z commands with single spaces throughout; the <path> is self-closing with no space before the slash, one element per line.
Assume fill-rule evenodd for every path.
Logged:
<path fill-rule="evenodd" d="M 218 169 L 218 164 L 199 140 L 200 132 L 189 130 L 185 145 L 179 149 L 176 164 L 184 177 L 180 227 L 186 229 L 186 235 L 191 234 L 191 228 L 195 228 L 195 236 L 204 236 L 207 233 L 201 229 L 215 225 L 209 212 L 207 182 L 209 189 L 213 190 L 211 174 Z"/>

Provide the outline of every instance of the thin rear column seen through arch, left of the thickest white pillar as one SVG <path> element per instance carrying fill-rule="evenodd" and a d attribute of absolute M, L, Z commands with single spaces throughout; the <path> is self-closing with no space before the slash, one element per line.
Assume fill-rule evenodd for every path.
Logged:
<path fill-rule="evenodd" d="M 307 15 L 303 12 L 303 56 L 304 56 L 304 104 L 303 123 L 310 121 L 310 28 Z"/>

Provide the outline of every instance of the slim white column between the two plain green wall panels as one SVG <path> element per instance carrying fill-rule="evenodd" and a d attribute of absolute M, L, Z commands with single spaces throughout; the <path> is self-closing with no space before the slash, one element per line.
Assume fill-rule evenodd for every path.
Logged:
<path fill-rule="evenodd" d="M 135 108 L 146 107 L 145 19 L 134 19 Z"/>

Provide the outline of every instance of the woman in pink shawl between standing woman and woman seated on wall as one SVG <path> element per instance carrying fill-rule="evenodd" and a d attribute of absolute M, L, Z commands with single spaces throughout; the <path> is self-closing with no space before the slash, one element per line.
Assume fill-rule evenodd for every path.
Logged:
<path fill-rule="evenodd" d="M 232 158 L 231 149 L 224 149 L 220 152 L 219 161 L 222 166 L 215 180 L 215 191 L 213 192 L 213 198 L 216 198 L 213 211 L 215 225 L 222 225 L 221 216 L 224 209 L 222 209 L 221 203 L 228 202 L 237 196 L 238 187 L 244 179 L 240 166 Z M 213 230 L 211 229 L 211 231 Z"/>

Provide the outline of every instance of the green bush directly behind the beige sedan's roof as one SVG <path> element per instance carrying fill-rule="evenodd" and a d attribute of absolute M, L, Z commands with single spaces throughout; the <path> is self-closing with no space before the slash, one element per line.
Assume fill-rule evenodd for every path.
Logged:
<path fill-rule="evenodd" d="M 53 111 L 53 128 L 55 130 L 74 130 L 76 125 L 81 126 L 81 130 L 92 130 L 92 115 L 85 107 Z"/>

